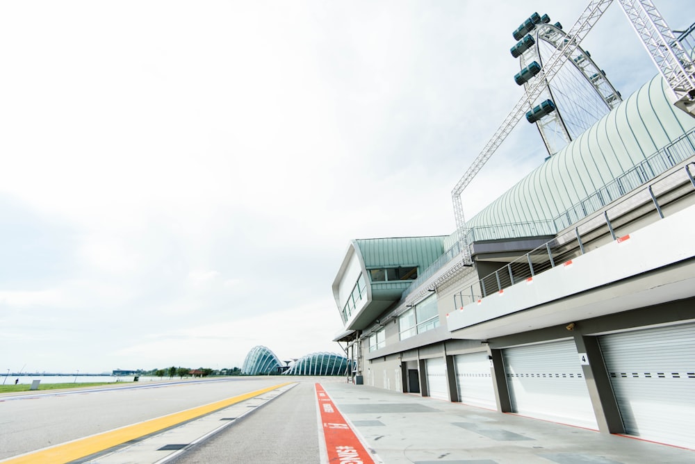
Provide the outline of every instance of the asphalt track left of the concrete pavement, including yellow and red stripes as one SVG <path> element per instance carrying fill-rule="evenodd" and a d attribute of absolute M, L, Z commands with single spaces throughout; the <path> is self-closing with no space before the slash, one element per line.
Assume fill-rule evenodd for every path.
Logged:
<path fill-rule="evenodd" d="M 374 462 L 319 379 L 277 383 L 285 379 L 3 395 L 0 462 Z"/>

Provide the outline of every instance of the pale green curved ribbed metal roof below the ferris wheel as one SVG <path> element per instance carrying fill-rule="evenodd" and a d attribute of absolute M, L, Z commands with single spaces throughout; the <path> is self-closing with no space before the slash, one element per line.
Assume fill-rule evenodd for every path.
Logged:
<path fill-rule="evenodd" d="M 669 92 L 660 76 L 651 79 L 467 226 L 552 221 L 694 129 L 695 118 L 673 106 Z"/>

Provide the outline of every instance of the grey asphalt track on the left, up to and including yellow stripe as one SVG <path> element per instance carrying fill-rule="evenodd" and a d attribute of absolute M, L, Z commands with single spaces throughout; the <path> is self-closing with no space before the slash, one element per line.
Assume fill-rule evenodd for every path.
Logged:
<path fill-rule="evenodd" d="M 283 381 L 143 383 L 3 395 L 0 459 L 10 458 L 1 462 L 13 464 L 76 461 L 263 395 Z"/>

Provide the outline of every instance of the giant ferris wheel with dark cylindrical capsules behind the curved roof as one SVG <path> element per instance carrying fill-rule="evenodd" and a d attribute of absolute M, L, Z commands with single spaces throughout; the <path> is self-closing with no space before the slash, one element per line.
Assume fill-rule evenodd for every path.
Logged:
<path fill-rule="evenodd" d="M 570 38 L 559 22 L 534 13 L 512 34 L 518 43 L 510 50 L 521 71 L 514 76 L 530 95 L 534 76 Z M 529 99 L 526 119 L 536 124 L 550 156 L 589 129 L 621 102 L 620 92 L 608 81 L 588 51 L 575 47 L 552 81 L 543 78 L 540 96 Z"/>

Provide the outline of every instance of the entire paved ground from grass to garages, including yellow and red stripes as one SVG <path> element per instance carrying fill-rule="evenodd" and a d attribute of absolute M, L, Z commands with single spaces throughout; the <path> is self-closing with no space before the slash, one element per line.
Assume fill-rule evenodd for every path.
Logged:
<path fill-rule="evenodd" d="M 284 380 L 291 383 L 278 383 Z M 50 454 L 56 450 L 75 454 Z M 3 458 L 4 464 L 690 464 L 695 450 L 344 379 L 257 377 L 0 395 Z"/>

